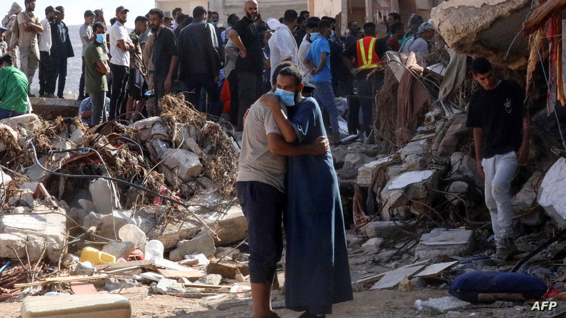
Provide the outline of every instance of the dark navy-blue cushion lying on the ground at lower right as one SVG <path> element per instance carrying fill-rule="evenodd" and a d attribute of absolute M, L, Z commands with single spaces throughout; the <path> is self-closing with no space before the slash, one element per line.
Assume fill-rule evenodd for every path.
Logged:
<path fill-rule="evenodd" d="M 448 292 L 463 301 L 477 303 L 481 302 L 479 294 L 522 294 L 524 299 L 539 299 L 547 290 L 542 280 L 527 274 L 469 272 L 457 276 Z"/>

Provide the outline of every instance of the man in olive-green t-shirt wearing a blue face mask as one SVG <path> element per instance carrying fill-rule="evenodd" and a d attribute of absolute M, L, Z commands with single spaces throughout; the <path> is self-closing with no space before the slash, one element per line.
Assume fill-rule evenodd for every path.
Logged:
<path fill-rule="evenodd" d="M 104 25 L 96 22 L 92 25 L 95 39 L 85 51 L 85 91 L 92 102 L 92 126 L 107 121 L 105 96 L 108 91 L 106 76 L 110 73 L 107 56 L 103 50 Z"/>

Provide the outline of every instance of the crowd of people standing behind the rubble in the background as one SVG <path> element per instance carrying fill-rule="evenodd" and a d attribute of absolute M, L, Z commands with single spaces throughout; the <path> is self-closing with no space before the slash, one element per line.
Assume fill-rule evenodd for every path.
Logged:
<path fill-rule="evenodd" d="M 25 0 L 24 7 L 12 3 L 0 26 L 0 55 L 10 55 L 14 67 L 24 73 L 29 97 L 35 97 L 30 86 L 39 69 L 39 97 L 64 98 L 67 60 L 74 56 L 65 10 L 47 6 L 40 20 L 35 2 Z M 427 54 L 427 41 L 434 35 L 432 24 L 419 15 L 409 19 L 407 32 L 400 15 L 391 13 L 384 38 L 375 38 L 375 24 L 360 28 L 356 21 L 348 22 L 348 35 L 341 37 L 331 17 L 287 10 L 281 19 L 264 21 L 248 4 L 241 19 L 236 13 L 227 17 L 227 28 L 219 26 L 218 12 L 198 6 L 191 16 L 181 8 L 175 8 L 172 17 L 152 9 L 135 18 L 130 33 L 125 28 L 127 8 L 116 8 L 108 24 L 103 10 L 86 10 L 79 30 L 78 99 L 94 99 L 94 114 L 100 118 L 91 124 L 159 114 L 161 97 L 184 92 L 197 109 L 224 116 L 242 131 L 249 105 L 271 89 L 273 69 L 289 60 L 316 88 L 330 141 L 339 141 L 339 116 L 347 116 L 350 134 L 369 134 L 373 87 L 382 82 L 379 72 L 372 71 L 381 67 L 386 51 Z M 102 92 L 110 103 L 98 111 L 105 107 Z M 339 96 L 348 97 L 347 114 L 337 109 Z"/>

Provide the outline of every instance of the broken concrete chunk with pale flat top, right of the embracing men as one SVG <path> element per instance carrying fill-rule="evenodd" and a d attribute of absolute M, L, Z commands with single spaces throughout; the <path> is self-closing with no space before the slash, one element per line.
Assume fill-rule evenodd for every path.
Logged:
<path fill-rule="evenodd" d="M 428 204 L 434 200 L 434 193 L 429 193 L 427 188 L 437 188 L 438 173 L 436 170 L 416 170 L 403 173 L 389 180 L 381 192 L 383 220 L 389 221 L 391 216 L 403 213 L 405 206 L 410 207 L 412 213 L 426 211 L 422 204 L 416 204 L 411 200 Z M 411 199 L 411 200 L 409 200 Z"/>

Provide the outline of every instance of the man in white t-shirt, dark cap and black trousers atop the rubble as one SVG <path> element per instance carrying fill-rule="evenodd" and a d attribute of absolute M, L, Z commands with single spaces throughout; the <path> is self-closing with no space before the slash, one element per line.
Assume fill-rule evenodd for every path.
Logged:
<path fill-rule="evenodd" d="M 116 8 L 116 23 L 110 27 L 110 71 L 112 71 L 112 96 L 110 98 L 109 121 L 121 114 L 122 102 L 126 95 L 127 80 L 130 76 L 130 51 L 135 46 L 124 26 L 127 19 L 124 6 Z"/>

